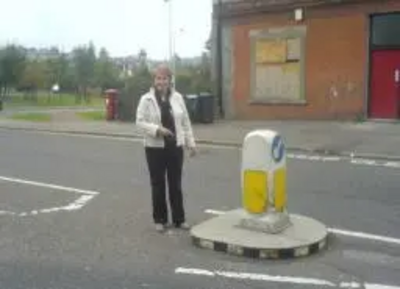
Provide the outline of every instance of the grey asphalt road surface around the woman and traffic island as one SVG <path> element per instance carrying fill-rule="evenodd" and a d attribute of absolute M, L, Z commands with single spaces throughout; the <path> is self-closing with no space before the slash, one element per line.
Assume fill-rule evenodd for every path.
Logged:
<path fill-rule="evenodd" d="M 291 212 L 400 239 L 400 169 L 288 166 Z M 233 149 L 201 148 L 187 159 L 191 223 L 210 218 L 207 209 L 240 206 L 239 167 Z M 0 130 L 0 192 L 0 288 L 400 288 L 400 244 L 384 240 L 333 235 L 322 254 L 261 262 L 194 248 L 185 232 L 157 234 L 141 143 Z M 90 200 L 74 207 L 82 195 Z"/>

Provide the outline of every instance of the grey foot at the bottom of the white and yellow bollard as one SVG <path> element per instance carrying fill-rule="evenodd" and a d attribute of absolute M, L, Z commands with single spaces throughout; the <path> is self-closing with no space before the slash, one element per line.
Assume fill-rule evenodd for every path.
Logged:
<path fill-rule="evenodd" d="M 248 214 L 239 222 L 239 227 L 267 234 L 279 234 L 292 225 L 289 214 L 269 212 L 260 215 Z"/>

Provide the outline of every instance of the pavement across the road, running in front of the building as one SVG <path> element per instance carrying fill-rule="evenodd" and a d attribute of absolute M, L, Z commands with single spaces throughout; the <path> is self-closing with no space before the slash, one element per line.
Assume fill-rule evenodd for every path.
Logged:
<path fill-rule="evenodd" d="M 132 123 L 80 121 L 70 109 L 52 110 L 51 123 L 7 119 L 0 113 L 0 127 L 119 137 L 140 137 Z M 3 117 L 1 117 L 3 115 Z M 273 129 L 283 135 L 289 151 L 360 158 L 400 160 L 400 124 L 397 122 L 328 121 L 223 121 L 194 124 L 200 143 L 240 146 L 254 129 Z"/>

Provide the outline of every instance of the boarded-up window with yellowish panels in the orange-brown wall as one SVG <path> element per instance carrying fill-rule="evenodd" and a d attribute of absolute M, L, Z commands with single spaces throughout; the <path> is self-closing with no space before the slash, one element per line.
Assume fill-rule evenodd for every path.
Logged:
<path fill-rule="evenodd" d="M 301 33 L 303 32 L 303 33 Z M 280 30 L 253 36 L 252 99 L 304 102 L 303 30 Z"/>

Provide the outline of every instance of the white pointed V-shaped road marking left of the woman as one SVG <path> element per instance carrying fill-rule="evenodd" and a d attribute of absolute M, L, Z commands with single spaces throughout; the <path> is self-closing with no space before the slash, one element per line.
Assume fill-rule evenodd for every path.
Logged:
<path fill-rule="evenodd" d="M 54 189 L 54 190 L 58 190 L 58 191 L 64 191 L 64 192 L 75 193 L 75 194 L 81 195 L 77 199 L 75 199 L 73 202 L 71 202 L 65 206 L 44 208 L 44 209 L 33 210 L 33 211 L 29 211 L 29 212 L 20 212 L 20 213 L 11 212 L 11 211 L 0 211 L 0 215 L 3 215 L 3 216 L 8 215 L 8 216 L 17 216 L 17 217 L 27 217 L 27 216 L 36 216 L 38 214 L 48 214 L 48 213 L 54 213 L 54 212 L 60 212 L 60 211 L 76 211 L 76 210 L 82 209 L 85 205 L 87 205 L 87 203 L 89 203 L 95 196 L 97 196 L 99 194 L 99 192 L 91 191 L 91 190 L 82 190 L 82 189 L 77 189 L 77 188 L 65 187 L 65 186 L 54 185 L 54 184 L 49 184 L 49 183 L 35 182 L 35 181 L 23 180 L 23 179 L 11 178 L 11 177 L 5 177 L 5 176 L 0 176 L 0 181 L 29 185 L 29 186 L 36 186 L 36 187 L 47 188 L 47 189 Z"/>

